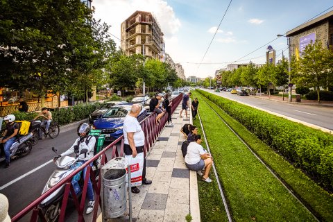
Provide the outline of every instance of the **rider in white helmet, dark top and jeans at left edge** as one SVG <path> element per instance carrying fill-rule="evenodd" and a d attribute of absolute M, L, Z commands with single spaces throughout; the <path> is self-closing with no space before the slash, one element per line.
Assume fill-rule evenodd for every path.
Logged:
<path fill-rule="evenodd" d="M 3 120 L 6 122 L 6 130 L 3 132 L 0 143 L 3 144 L 3 151 L 5 152 L 6 165 L 9 167 L 10 163 L 10 146 L 15 142 L 16 135 L 19 132 L 19 124 L 15 123 L 15 116 L 13 114 L 7 115 Z"/>

